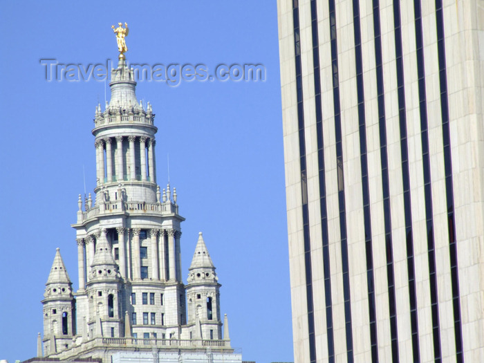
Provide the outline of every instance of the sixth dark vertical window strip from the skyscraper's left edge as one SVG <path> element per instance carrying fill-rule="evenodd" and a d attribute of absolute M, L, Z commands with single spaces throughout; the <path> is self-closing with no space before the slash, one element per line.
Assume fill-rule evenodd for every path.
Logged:
<path fill-rule="evenodd" d="M 411 222 L 409 151 L 407 145 L 407 110 L 403 74 L 402 24 L 400 21 L 400 0 L 393 0 L 393 23 L 395 26 L 395 59 L 398 86 L 398 118 L 400 122 L 400 153 L 402 156 L 402 184 L 407 239 L 407 272 L 409 276 L 410 326 L 413 362 L 420 362 L 418 337 L 417 294 L 415 281 L 415 261 L 413 257 L 413 227 Z"/>

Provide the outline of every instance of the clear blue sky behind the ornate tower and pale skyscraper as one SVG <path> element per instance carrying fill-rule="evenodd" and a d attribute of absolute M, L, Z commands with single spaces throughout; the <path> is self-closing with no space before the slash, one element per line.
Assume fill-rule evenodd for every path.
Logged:
<path fill-rule="evenodd" d="M 275 1 L 0 1 L 0 360 L 35 356 L 55 248 L 77 290 L 71 223 L 95 185 L 91 134 L 104 82 L 46 82 L 41 58 L 95 64 L 261 63 L 265 82 L 138 82 L 156 113 L 158 183 L 178 192 L 183 279 L 198 231 L 244 360 L 291 362 L 292 332 Z M 108 92 L 109 97 L 109 92 Z"/>

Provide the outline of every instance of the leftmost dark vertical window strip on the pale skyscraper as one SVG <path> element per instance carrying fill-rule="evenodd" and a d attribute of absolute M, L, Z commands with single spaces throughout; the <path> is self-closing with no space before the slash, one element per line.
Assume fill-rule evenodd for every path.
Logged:
<path fill-rule="evenodd" d="M 306 177 L 306 140 L 304 137 L 304 104 L 301 75 L 301 41 L 299 35 L 299 4 L 293 0 L 294 48 L 297 84 L 297 121 L 299 125 L 299 160 L 301 167 L 301 200 L 304 238 L 304 267 L 306 270 L 306 301 L 308 310 L 308 340 L 310 363 L 316 362 L 316 338 L 313 303 L 313 276 L 311 272 L 311 246 L 309 234 L 308 185 Z"/>

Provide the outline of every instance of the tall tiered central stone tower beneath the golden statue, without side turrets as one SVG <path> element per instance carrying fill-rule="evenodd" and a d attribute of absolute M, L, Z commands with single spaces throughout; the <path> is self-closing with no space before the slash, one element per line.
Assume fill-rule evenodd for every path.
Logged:
<path fill-rule="evenodd" d="M 125 316 L 134 337 L 179 338 L 186 320 L 180 263 L 184 218 L 176 189 L 171 196 L 169 185 L 161 193 L 156 184 L 157 128 L 151 105 L 144 109 L 136 100 L 133 77 L 120 58 L 111 73 L 111 101 L 104 112 L 96 107 L 95 203 L 89 198 L 85 210 L 80 204 L 73 225 L 80 271 L 77 326 L 86 329 L 88 339 L 124 337 Z"/>

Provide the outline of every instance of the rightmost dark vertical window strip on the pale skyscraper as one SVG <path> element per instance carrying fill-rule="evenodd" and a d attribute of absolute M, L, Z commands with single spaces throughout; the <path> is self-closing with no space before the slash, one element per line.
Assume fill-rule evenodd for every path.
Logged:
<path fill-rule="evenodd" d="M 454 182 L 452 180 L 452 155 L 450 148 L 449 100 L 447 98 L 447 65 L 445 62 L 444 12 L 442 0 L 436 0 L 436 24 L 438 46 L 438 71 L 440 82 L 440 111 L 444 145 L 445 190 L 447 199 L 447 223 L 449 230 L 450 272 L 452 277 L 452 305 L 454 309 L 454 334 L 456 362 L 464 362 L 462 322 L 460 319 L 460 294 L 457 263 L 456 221 L 454 219 Z"/>

